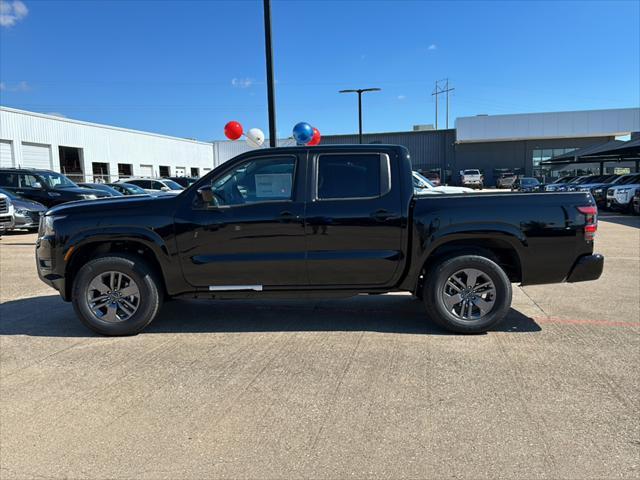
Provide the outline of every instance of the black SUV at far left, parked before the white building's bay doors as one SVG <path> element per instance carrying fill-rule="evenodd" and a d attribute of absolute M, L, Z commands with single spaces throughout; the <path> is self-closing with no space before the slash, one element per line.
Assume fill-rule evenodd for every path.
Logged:
<path fill-rule="evenodd" d="M 73 200 L 108 197 L 106 193 L 79 187 L 61 173 L 31 168 L 1 168 L 0 187 L 47 208 Z"/>

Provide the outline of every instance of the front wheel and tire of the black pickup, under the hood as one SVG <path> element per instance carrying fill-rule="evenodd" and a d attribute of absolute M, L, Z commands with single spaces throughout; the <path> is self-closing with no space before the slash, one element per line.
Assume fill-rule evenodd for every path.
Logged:
<path fill-rule="evenodd" d="M 89 261 L 78 271 L 72 288 L 73 308 L 80 321 L 109 336 L 141 332 L 160 311 L 162 299 L 154 271 L 140 257 L 126 254 Z"/>

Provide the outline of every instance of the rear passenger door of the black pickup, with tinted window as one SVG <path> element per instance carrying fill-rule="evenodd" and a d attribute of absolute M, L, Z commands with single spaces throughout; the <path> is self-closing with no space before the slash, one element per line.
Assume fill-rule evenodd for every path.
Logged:
<path fill-rule="evenodd" d="M 402 261 L 401 188 L 392 151 L 312 157 L 306 210 L 314 286 L 386 286 Z"/>

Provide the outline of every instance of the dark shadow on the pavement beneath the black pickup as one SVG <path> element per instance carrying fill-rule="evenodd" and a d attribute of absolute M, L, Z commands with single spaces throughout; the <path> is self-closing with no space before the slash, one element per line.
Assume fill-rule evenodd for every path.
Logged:
<path fill-rule="evenodd" d="M 538 332 L 530 317 L 511 309 L 499 332 Z M 144 331 L 157 333 L 371 331 L 452 335 L 426 317 L 408 295 L 358 296 L 340 300 L 174 300 Z M 57 295 L 0 304 L 0 335 L 95 337 Z"/>

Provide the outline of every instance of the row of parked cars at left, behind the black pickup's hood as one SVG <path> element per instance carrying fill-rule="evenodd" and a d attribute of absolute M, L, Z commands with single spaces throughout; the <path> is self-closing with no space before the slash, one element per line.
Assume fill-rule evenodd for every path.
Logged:
<path fill-rule="evenodd" d="M 93 200 L 123 195 L 176 195 L 197 179 L 128 178 L 113 183 L 75 183 L 51 170 L 0 169 L 0 233 L 8 230 L 36 231 L 47 209 L 74 200 Z"/>

